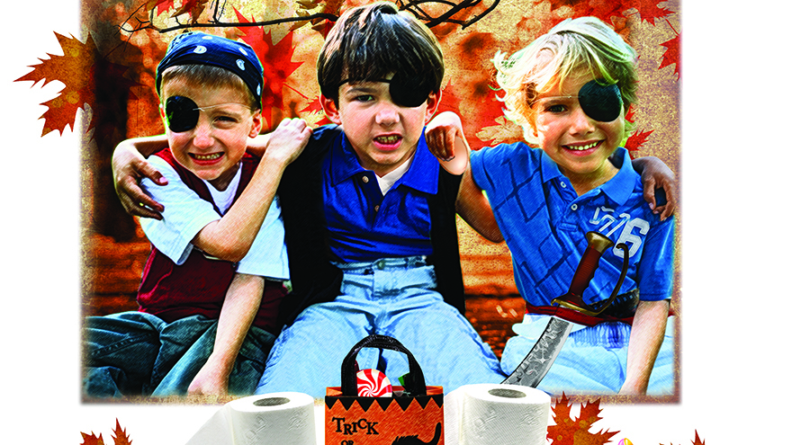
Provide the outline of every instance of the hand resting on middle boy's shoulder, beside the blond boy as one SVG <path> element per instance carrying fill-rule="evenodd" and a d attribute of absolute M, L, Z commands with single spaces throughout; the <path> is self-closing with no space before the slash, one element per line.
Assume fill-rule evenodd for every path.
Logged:
<path fill-rule="evenodd" d="M 427 145 L 451 174 L 463 174 L 467 169 L 470 148 L 462 131 L 462 120 L 456 113 L 445 111 L 427 124 Z"/>

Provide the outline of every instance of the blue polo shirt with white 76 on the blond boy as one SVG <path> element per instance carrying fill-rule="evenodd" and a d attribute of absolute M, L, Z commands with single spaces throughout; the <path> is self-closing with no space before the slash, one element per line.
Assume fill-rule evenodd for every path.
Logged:
<path fill-rule="evenodd" d="M 671 298 L 674 219 L 661 222 L 649 209 L 625 148 L 618 148 L 613 159 L 616 176 L 578 196 L 541 149 L 501 144 L 471 155 L 473 180 L 487 193 L 527 304 L 549 306 L 569 290 L 589 231 L 629 247 L 630 267 L 620 293 L 638 288 L 643 300 Z M 623 261 L 616 247 L 603 254 L 583 293 L 587 303 L 610 296 Z"/>

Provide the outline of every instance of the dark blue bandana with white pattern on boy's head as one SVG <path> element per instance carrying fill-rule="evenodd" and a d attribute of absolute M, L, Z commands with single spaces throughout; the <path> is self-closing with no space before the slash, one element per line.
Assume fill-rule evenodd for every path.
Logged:
<path fill-rule="evenodd" d="M 170 42 L 165 58 L 157 66 L 157 94 L 163 71 L 178 65 L 211 65 L 228 69 L 245 82 L 256 102 L 261 103 L 264 69 L 256 52 L 247 43 L 204 32 L 179 35 Z"/>

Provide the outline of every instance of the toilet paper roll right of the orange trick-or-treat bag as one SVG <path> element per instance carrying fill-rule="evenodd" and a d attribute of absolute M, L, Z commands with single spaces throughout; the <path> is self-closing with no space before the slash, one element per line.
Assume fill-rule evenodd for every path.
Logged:
<path fill-rule="evenodd" d="M 444 404 L 446 445 L 545 445 L 550 396 L 533 387 L 459 387 Z"/>

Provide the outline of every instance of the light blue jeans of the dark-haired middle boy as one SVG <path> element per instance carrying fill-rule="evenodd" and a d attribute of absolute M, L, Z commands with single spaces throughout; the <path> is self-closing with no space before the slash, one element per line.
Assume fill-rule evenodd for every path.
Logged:
<path fill-rule="evenodd" d="M 341 385 L 341 361 L 369 334 L 389 335 L 413 353 L 427 385 L 446 392 L 505 378 L 490 346 L 434 290 L 435 270 L 422 257 L 340 263 L 341 295 L 306 308 L 275 341 L 257 394 L 298 391 L 316 398 Z M 407 374 L 399 352 L 365 349 L 360 369 L 380 369 L 393 385 Z"/>

